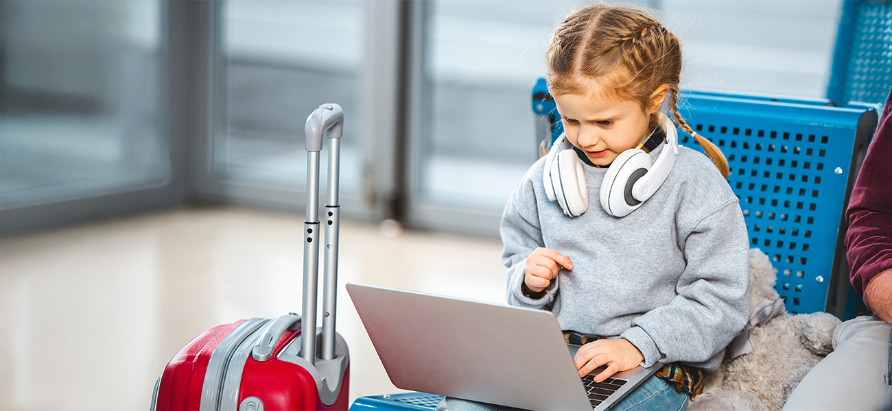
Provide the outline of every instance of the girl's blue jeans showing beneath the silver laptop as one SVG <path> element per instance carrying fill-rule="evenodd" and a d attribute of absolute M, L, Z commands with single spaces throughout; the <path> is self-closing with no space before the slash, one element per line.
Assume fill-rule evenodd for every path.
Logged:
<path fill-rule="evenodd" d="M 656 375 L 648 378 L 611 411 L 683 411 L 688 409 L 690 397 Z M 437 411 L 520 411 L 517 408 L 484 404 L 466 399 L 443 399 Z"/>

